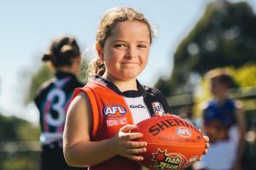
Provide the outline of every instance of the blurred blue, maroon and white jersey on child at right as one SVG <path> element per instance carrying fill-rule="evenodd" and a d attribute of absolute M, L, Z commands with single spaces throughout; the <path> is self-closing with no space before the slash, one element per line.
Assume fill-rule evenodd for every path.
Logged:
<path fill-rule="evenodd" d="M 217 100 L 211 100 L 204 109 L 204 131 L 211 142 L 201 160 L 206 169 L 231 169 L 239 143 L 236 101 L 226 99 L 223 105 L 218 105 Z"/>

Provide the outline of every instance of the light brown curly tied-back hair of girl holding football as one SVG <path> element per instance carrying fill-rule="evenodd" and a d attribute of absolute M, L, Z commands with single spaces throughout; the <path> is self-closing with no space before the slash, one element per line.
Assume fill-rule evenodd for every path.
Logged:
<path fill-rule="evenodd" d="M 124 22 L 127 20 L 136 20 L 148 26 L 148 37 L 150 38 L 150 43 L 152 42 L 154 33 L 145 16 L 134 8 L 117 7 L 107 11 L 107 13 L 103 15 L 102 20 L 100 21 L 98 30 L 96 32 L 96 41 L 101 45 L 102 48 L 104 48 L 108 37 L 111 36 L 113 28 L 119 22 Z M 100 59 L 96 58 L 90 62 L 89 77 L 93 77 L 96 74 L 102 76 L 105 70 L 106 69 L 104 63 Z"/>

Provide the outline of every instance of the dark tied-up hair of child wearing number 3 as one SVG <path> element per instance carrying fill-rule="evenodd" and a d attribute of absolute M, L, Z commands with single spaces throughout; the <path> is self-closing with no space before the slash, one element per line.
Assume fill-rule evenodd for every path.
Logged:
<path fill-rule="evenodd" d="M 43 61 L 50 61 L 55 68 L 72 65 L 74 59 L 80 57 L 79 45 L 74 37 L 57 37 L 49 46 Z"/>

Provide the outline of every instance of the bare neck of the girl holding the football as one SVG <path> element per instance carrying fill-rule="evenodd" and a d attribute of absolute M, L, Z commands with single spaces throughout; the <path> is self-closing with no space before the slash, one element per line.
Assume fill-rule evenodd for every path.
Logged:
<path fill-rule="evenodd" d="M 136 82 L 136 78 L 133 79 L 129 79 L 129 80 L 121 80 L 121 79 L 117 79 L 115 77 L 111 77 L 108 74 L 104 74 L 102 77 L 108 79 L 109 81 L 113 82 L 113 84 L 115 86 L 117 86 L 117 88 L 119 88 L 119 90 L 121 92 L 125 92 L 128 90 L 138 90 L 137 89 L 137 82 Z"/>

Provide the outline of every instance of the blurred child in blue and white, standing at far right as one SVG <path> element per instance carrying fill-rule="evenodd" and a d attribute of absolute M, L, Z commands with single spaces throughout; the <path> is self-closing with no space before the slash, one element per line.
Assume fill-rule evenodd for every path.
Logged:
<path fill-rule="evenodd" d="M 201 168 L 212 170 L 241 169 L 245 149 L 246 123 L 241 102 L 230 99 L 233 79 L 224 69 L 207 73 L 213 99 L 202 106 L 202 130 L 210 138 L 211 147 L 203 156 Z"/>

